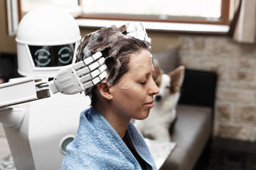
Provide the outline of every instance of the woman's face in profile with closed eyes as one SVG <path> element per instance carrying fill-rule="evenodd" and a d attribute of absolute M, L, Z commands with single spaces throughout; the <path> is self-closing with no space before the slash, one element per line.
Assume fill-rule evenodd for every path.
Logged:
<path fill-rule="evenodd" d="M 154 107 L 155 94 L 159 93 L 152 78 L 153 66 L 148 50 L 131 56 L 129 72 L 111 88 L 114 111 L 124 118 L 143 120 Z"/>

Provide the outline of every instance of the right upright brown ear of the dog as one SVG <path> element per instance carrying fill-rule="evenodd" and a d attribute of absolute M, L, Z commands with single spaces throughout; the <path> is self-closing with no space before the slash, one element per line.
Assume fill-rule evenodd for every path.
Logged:
<path fill-rule="evenodd" d="M 171 78 L 171 93 L 174 94 L 181 89 L 181 85 L 184 79 L 185 67 L 179 66 L 169 73 Z"/>

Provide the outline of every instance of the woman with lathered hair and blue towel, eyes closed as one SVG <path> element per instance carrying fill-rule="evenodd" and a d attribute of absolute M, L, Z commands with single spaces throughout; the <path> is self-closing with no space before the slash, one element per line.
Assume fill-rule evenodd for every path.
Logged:
<path fill-rule="evenodd" d="M 85 91 L 92 107 L 80 115 L 62 169 L 156 169 L 130 121 L 145 119 L 159 93 L 148 48 L 148 42 L 127 35 L 127 25 L 102 28 L 82 39 L 78 61 L 102 52 L 107 77 Z"/>

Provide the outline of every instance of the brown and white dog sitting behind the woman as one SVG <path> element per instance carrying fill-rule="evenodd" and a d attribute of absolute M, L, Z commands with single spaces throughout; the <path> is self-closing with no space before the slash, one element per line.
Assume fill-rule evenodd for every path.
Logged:
<path fill-rule="evenodd" d="M 169 74 L 164 74 L 159 62 L 154 60 L 153 78 L 159 87 L 154 96 L 154 108 L 145 120 L 135 120 L 134 125 L 146 138 L 171 142 L 169 129 L 177 118 L 176 105 L 180 96 L 185 67 L 180 66 Z"/>

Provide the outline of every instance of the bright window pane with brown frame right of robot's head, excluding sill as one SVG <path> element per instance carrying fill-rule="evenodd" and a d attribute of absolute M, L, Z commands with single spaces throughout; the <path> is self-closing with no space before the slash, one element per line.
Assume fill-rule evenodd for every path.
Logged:
<path fill-rule="evenodd" d="M 230 0 L 80 0 L 80 18 L 228 25 Z"/>

